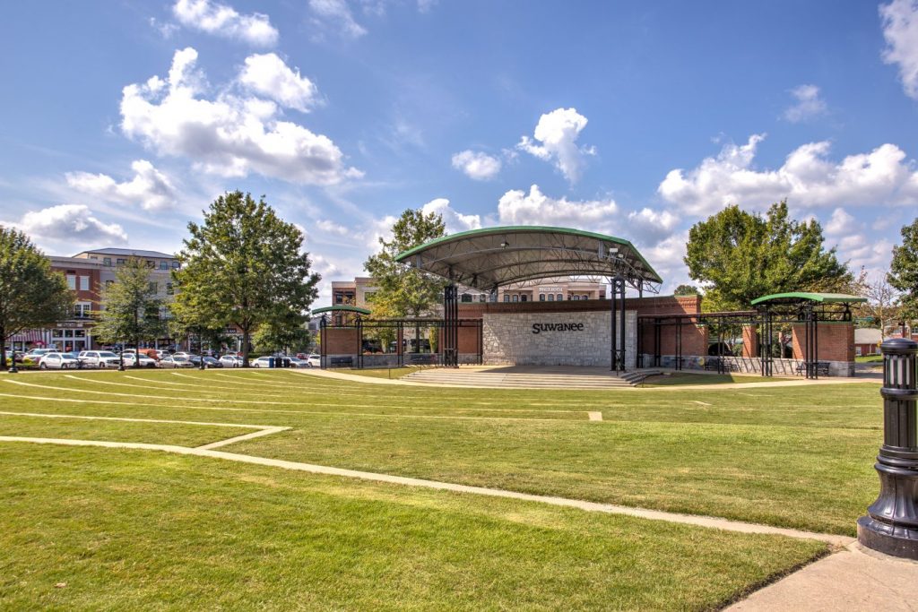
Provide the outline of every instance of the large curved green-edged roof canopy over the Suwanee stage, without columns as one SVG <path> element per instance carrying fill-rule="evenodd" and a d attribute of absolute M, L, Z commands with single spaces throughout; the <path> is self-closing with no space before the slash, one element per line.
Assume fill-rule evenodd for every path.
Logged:
<path fill-rule="evenodd" d="M 633 286 L 663 282 L 628 240 L 574 228 L 471 229 L 405 250 L 396 261 L 476 289 L 590 274 L 621 274 Z"/>

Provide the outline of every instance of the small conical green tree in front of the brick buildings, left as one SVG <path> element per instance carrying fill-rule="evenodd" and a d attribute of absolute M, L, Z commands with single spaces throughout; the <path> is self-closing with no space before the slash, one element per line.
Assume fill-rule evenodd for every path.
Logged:
<path fill-rule="evenodd" d="M 165 330 L 160 316 L 162 299 L 150 281 L 146 262 L 131 258 L 118 268 L 115 282 L 102 291 L 95 334 L 106 342 L 125 342 L 140 348 L 142 340 L 159 338 Z M 135 360 L 140 367 L 140 360 Z"/>

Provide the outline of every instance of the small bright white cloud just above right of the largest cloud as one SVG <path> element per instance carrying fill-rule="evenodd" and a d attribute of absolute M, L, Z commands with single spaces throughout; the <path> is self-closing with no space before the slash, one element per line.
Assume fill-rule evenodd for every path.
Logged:
<path fill-rule="evenodd" d="M 240 83 L 287 108 L 306 113 L 317 102 L 319 90 L 299 69 L 290 70 L 274 53 L 250 55 L 239 75 Z"/>

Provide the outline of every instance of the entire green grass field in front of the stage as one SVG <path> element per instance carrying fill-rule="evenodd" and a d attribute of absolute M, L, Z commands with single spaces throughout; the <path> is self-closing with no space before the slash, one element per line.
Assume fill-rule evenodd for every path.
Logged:
<path fill-rule="evenodd" d="M 0 415 L 0 436 L 198 446 L 252 431 L 81 416 L 281 426 L 219 450 L 853 535 L 878 490 L 878 388 L 27 373 L 0 377 L 0 409 L 68 418 Z M 3 441 L 0 491 L 6 608 L 700 609 L 825 551 L 158 451 Z"/>

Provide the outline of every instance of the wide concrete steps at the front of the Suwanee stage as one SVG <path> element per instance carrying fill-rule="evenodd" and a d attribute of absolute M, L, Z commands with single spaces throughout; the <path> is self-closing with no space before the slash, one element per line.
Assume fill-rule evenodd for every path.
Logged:
<path fill-rule="evenodd" d="M 450 384 L 456 386 L 500 389 L 616 389 L 633 386 L 654 371 L 641 371 L 615 375 L 577 373 L 506 373 L 464 371 L 450 368 L 431 368 L 411 373 L 402 380 L 412 383 Z"/>

